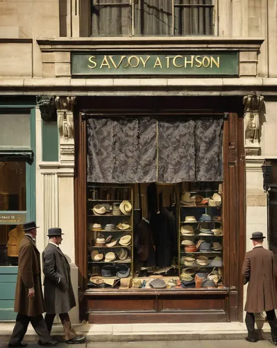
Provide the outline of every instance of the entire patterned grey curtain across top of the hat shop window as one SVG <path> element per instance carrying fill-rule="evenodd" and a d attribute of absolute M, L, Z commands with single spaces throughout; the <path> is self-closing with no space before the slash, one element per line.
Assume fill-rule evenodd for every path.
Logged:
<path fill-rule="evenodd" d="M 222 181 L 222 118 L 90 118 L 87 181 Z"/>

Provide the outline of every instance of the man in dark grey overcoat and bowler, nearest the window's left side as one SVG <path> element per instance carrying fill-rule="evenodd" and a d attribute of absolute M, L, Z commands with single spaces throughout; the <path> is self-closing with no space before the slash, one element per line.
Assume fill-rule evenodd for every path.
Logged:
<path fill-rule="evenodd" d="M 49 244 L 42 253 L 45 275 L 44 299 L 47 312 L 45 322 L 49 333 L 51 333 L 53 319 L 58 314 L 65 331 L 65 342 L 69 344 L 83 343 L 85 337 L 76 334 L 67 313 L 76 306 L 76 302 L 72 288 L 70 266 L 59 247 L 63 234 L 60 228 L 49 228 Z"/>

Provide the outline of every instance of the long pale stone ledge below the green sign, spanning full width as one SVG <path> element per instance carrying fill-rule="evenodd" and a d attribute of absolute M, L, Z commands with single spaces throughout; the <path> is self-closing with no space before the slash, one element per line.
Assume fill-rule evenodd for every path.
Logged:
<path fill-rule="evenodd" d="M 1 95 L 277 95 L 277 78 L 0 79 Z"/>

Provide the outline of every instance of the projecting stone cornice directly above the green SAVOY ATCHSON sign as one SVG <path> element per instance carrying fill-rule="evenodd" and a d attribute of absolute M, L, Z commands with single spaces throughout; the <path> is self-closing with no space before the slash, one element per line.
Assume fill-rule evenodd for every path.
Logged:
<path fill-rule="evenodd" d="M 38 38 L 42 52 L 72 52 L 92 50 L 137 51 L 174 51 L 190 52 L 194 50 L 211 51 L 257 51 L 264 38 L 224 38 L 224 37 L 113 37 L 113 38 Z"/>

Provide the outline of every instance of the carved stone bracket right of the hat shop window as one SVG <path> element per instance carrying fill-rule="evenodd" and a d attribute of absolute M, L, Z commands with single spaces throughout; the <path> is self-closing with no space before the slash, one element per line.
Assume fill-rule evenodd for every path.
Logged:
<path fill-rule="evenodd" d="M 246 95 L 244 104 L 244 147 L 246 155 L 260 155 L 260 115 L 265 108 L 262 95 Z"/>

